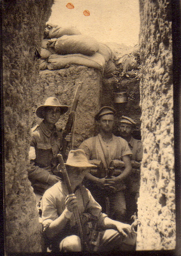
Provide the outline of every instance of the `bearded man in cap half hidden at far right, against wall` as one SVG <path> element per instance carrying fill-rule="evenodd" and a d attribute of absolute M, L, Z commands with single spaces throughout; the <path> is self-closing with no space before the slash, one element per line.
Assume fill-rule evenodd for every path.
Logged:
<path fill-rule="evenodd" d="M 137 211 L 137 199 L 139 197 L 140 187 L 140 165 L 143 157 L 143 145 L 141 140 L 132 137 L 133 128 L 136 123 L 129 117 L 122 116 L 119 120 L 120 136 L 128 142 L 129 148 L 132 152 L 131 166 L 132 171 L 127 180 L 126 202 L 129 205 L 130 215 Z M 132 209 L 132 210 L 131 210 Z"/>

